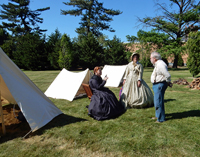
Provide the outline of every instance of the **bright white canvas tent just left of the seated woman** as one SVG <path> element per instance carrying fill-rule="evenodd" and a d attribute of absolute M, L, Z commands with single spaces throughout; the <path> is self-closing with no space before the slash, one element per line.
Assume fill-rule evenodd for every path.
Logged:
<path fill-rule="evenodd" d="M 45 94 L 55 99 L 73 101 L 76 96 L 85 94 L 82 83 L 88 83 L 91 77 L 89 69 L 82 72 L 70 72 L 66 69 L 58 74 Z"/>

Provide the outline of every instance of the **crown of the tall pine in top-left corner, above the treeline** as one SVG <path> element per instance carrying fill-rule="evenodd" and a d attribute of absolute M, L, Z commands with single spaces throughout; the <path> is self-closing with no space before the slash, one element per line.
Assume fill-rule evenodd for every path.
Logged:
<path fill-rule="evenodd" d="M 40 12 L 49 10 L 50 7 L 41 8 L 37 10 L 30 10 L 29 3 L 30 0 L 10 0 L 7 5 L 0 5 L 3 10 L 1 10 L 0 19 L 7 20 L 8 22 L 2 22 L 3 28 L 11 31 L 14 35 L 25 35 L 27 33 L 44 32 L 39 28 L 37 23 L 42 23 L 43 19 L 39 16 Z"/>

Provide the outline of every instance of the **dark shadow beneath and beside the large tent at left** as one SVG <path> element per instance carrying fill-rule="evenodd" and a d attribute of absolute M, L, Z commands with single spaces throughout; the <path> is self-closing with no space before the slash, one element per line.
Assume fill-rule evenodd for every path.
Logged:
<path fill-rule="evenodd" d="M 30 138 L 35 135 L 42 135 L 45 130 L 55 128 L 55 127 L 62 127 L 71 123 L 86 121 L 86 119 L 76 118 L 73 116 L 69 116 L 66 114 L 60 114 L 47 123 L 44 127 L 40 128 L 39 130 L 30 133 L 26 138 Z M 29 124 L 27 122 L 22 122 L 20 124 L 14 124 L 10 126 L 6 126 L 6 135 L 0 136 L 0 144 L 7 142 L 9 140 L 13 140 L 15 138 L 24 137 L 30 131 Z M 2 132 L 2 130 L 0 130 Z"/>

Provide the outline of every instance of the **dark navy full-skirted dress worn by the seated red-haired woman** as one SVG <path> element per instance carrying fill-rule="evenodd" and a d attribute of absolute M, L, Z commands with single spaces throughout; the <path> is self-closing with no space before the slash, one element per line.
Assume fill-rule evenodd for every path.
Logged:
<path fill-rule="evenodd" d="M 94 75 L 89 81 L 93 92 L 88 114 L 96 120 L 115 118 L 125 112 L 125 107 L 119 103 L 115 94 L 104 87 L 106 81 Z"/>

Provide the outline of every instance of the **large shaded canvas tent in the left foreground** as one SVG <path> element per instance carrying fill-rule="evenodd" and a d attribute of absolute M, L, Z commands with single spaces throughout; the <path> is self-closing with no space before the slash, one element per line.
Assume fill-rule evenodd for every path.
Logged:
<path fill-rule="evenodd" d="M 9 103 L 17 103 L 24 117 L 36 131 L 62 112 L 10 60 L 0 48 L 0 91 Z"/>

